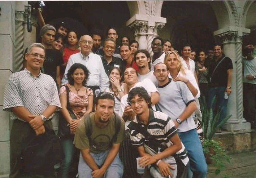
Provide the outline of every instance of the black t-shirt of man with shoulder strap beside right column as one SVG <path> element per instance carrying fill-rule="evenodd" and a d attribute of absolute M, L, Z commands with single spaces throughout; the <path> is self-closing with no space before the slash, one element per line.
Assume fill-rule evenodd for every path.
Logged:
<path fill-rule="evenodd" d="M 209 83 L 209 87 L 211 88 L 227 86 L 227 70 L 233 69 L 233 64 L 229 57 L 225 57 L 225 59 L 223 59 L 223 61 L 218 65 L 212 76 L 214 68 L 221 61 L 222 58 L 224 58 L 224 55 L 222 55 L 222 57 L 218 61 L 215 61 L 213 59 L 210 63 L 208 74 L 209 77 L 211 77 L 211 82 Z"/>

